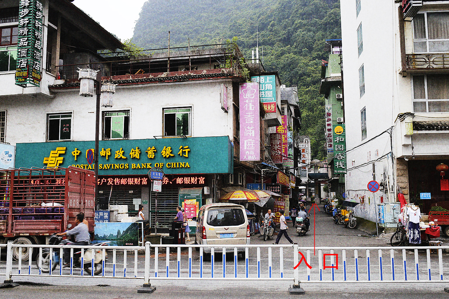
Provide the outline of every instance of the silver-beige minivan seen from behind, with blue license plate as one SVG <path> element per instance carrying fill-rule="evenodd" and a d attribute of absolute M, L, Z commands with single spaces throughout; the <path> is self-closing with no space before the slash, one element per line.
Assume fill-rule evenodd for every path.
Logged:
<path fill-rule="evenodd" d="M 226 245 L 226 251 L 245 251 L 250 244 L 250 226 L 245 208 L 239 204 L 206 204 L 199 209 L 195 244 Z M 228 247 L 229 246 L 229 247 Z M 204 247 L 210 253 L 210 247 Z M 222 249 L 219 249 L 222 251 Z"/>

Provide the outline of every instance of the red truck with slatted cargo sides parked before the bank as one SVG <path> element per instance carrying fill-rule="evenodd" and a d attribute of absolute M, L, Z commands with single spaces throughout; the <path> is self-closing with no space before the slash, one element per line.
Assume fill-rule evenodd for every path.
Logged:
<path fill-rule="evenodd" d="M 93 171 L 73 166 L 0 170 L 0 244 L 47 244 L 51 234 L 74 227 L 79 212 L 93 233 L 95 184 Z M 22 260 L 29 256 L 22 247 Z"/>

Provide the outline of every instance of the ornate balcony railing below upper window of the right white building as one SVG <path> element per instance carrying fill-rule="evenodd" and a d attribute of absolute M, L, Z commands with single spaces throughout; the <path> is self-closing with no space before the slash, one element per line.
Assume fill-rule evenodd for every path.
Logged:
<path fill-rule="evenodd" d="M 449 70 L 449 53 L 405 54 L 407 71 Z"/>

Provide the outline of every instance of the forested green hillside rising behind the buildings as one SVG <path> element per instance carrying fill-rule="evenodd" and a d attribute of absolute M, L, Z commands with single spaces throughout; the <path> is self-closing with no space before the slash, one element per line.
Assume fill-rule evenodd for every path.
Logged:
<path fill-rule="evenodd" d="M 321 59 L 328 58 L 324 40 L 341 38 L 339 0 L 149 0 L 132 41 L 145 49 L 167 47 L 169 30 L 172 47 L 187 45 L 188 38 L 200 45 L 237 36 L 247 59 L 258 31 L 265 69 L 278 71 L 287 87 L 298 85 L 299 134 L 312 138 L 312 158 L 325 157 Z"/>

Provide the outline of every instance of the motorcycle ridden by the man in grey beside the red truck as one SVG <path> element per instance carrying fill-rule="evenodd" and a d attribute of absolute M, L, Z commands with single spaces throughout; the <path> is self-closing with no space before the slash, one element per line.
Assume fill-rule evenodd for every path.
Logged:
<path fill-rule="evenodd" d="M 69 245 L 69 240 L 63 239 L 61 236 L 57 236 L 56 234 L 53 234 L 50 239 L 48 240 L 48 245 Z M 94 256 L 94 266 L 93 266 L 93 273 L 94 275 L 98 275 L 103 270 L 103 251 L 100 246 L 108 246 L 108 242 L 102 242 L 98 244 L 93 244 L 92 248 L 95 250 L 95 256 Z M 72 268 L 84 268 L 86 273 L 89 275 L 92 273 L 92 248 L 85 248 L 84 249 L 84 256 L 83 256 L 83 264 L 81 264 L 81 248 L 74 248 L 73 249 L 73 265 Z M 59 248 L 53 248 L 53 254 L 52 254 L 52 271 L 56 269 L 56 266 L 59 264 Z M 105 251 L 105 263 L 107 259 L 107 253 Z M 42 249 L 42 258 L 36 261 L 36 266 L 38 269 L 40 269 L 44 273 L 50 272 L 50 248 L 43 248 Z"/>

